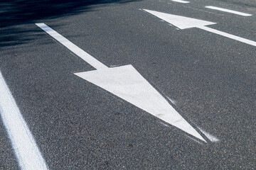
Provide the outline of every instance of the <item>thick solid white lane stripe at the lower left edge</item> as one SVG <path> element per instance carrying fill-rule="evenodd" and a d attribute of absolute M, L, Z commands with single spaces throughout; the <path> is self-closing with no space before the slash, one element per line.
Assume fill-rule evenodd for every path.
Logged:
<path fill-rule="evenodd" d="M 33 135 L 0 72 L 0 115 L 23 170 L 48 169 Z"/>

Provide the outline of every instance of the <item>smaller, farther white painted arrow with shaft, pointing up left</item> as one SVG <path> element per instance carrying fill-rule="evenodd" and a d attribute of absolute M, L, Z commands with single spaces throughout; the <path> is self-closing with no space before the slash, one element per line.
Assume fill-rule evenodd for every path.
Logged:
<path fill-rule="evenodd" d="M 157 12 L 157 11 L 151 11 L 148 9 L 143 9 L 144 11 L 151 13 L 152 15 L 161 18 L 162 20 L 171 23 L 171 25 L 176 26 L 177 28 L 182 29 L 186 29 L 186 28 L 200 28 L 202 30 L 207 30 L 211 33 L 215 33 L 218 35 L 222 35 L 226 38 L 231 38 L 233 40 L 238 40 L 240 42 L 244 42 L 248 45 L 253 45 L 256 47 L 256 42 L 252 41 L 252 40 L 247 40 L 245 38 L 240 38 L 236 35 L 232 35 L 229 33 L 224 33 L 220 30 L 215 30 L 213 28 L 208 28 L 206 26 L 208 25 L 213 25 L 215 23 L 209 22 L 209 21 L 203 21 L 203 20 L 198 20 L 195 18 L 188 18 L 188 17 L 184 17 L 184 16 L 176 16 L 176 15 L 172 15 L 169 13 L 161 13 L 161 12 Z"/>

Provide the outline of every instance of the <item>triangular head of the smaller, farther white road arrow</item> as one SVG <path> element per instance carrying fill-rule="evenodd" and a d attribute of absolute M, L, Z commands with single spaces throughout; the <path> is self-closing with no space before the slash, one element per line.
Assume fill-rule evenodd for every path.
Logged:
<path fill-rule="evenodd" d="M 203 20 L 198 20 L 194 18 L 188 18 L 184 16 L 176 16 L 176 15 L 171 15 L 169 13 L 161 13 L 157 11 L 151 11 L 148 9 L 143 9 L 144 11 L 151 13 L 152 15 L 161 18 L 162 20 L 171 23 L 171 25 L 176 26 L 177 28 L 186 29 L 186 28 L 194 28 L 194 27 L 202 27 L 202 26 L 208 26 L 208 25 L 213 25 L 215 23 L 209 22 L 209 21 L 203 21 Z"/>

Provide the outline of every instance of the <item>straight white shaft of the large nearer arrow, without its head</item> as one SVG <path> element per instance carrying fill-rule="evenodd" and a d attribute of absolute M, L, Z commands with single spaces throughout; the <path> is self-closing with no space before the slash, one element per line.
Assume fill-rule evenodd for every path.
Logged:
<path fill-rule="evenodd" d="M 95 69 L 106 69 L 108 68 L 105 66 L 105 64 L 102 64 L 100 61 L 96 60 L 94 57 L 89 55 L 84 50 L 80 49 L 80 47 L 74 45 L 70 40 L 67 38 L 64 38 L 63 35 L 60 35 L 52 28 L 46 26 L 45 23 L 36 23 L 36 26 L 40 27 L 42 30 L 46 31 L 50 36 L 55 38 L 55 40 L 58 40 L 61 44 L 63 44 L 65 47 L 67 47 L 69 50 L 75 53 L 75 55 L 78 55 L 82 60 L 85 60 L 88 64 L 90 64 L 92 67 L 95 67 Z"/>

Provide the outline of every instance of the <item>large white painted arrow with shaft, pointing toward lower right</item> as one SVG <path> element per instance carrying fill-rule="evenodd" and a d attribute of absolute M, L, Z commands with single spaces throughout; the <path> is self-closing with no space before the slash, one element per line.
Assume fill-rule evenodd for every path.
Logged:
<path fill-rule="evenodd" d="M 81 57 L 82 60 L 85 60 L 85 62 L 97 69 L 90 72 L 75 73 L 75 75 L 90 81 L 92 84 L 100 86 L 102 89 L 132 103 L 134 106 L 164 120 L 166 123 L 174 125 L 188 134 L 206 142 L 206 140 L 175 111 L 166 99 L 161 96 L 132 65 L 109 68 L 55 30 L 46 26 L 46 24 L 36 23 L 36 25 L 65 47 L 68 47 L 69 50 Z"/>

